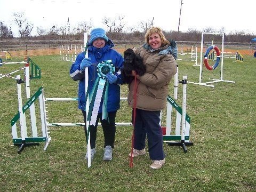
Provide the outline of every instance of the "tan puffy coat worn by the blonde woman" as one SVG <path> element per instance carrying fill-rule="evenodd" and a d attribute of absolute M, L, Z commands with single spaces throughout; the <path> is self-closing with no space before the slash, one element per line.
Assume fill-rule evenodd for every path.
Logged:
<path fill-rule="evenodd" d="M 141 46 L 136 53 L 143 58 L 146 65 L 146 73 L 137 79 L 137 106 L 138 109 L 156 111 L 166 107 L 166 97 L 168 94 L 168 84 L 172 76 L 177 73 L 177 63 L 171 54 L 158 54 L 166 49 L 151 52 Z M 128 103 L 134 107 L 134 83 L 129 84 Z"/>

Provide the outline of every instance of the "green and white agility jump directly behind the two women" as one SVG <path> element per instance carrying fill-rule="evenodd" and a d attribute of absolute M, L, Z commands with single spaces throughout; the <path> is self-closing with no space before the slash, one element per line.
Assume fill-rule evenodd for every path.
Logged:
<path fill-rule="evenodd" d="M 44 150 L 51 141 L 50 137 L 50 126 L 84 126 L 84 123 L 49 123 L 49 115 L 47 114 L 46 101 L 77 101 L 77 98 L 45 98 L 44 89 L 40 87 L 38 91 L 22 106 L 21 100 L 21 83 L 22 80 L 17 76 L 17 87 L 18 87 L 18 101 L 19 101 L 19 112 L 12 118 L 12 138 L 13 144 L 15 146 L 20 146 L 18 153 L 21 153 L 23 148 L 27 146 L 39 145 L 38 142 L 46 142 Z M 164 142 L 167 142 L 170 146 L 181 146 L 185 153 L 187 152 L 186 146 L 193 145 L 193 142 L 189 141 L 189 131 L 190 131 L 190 117 L 186 114 L 186 86 L 187 86 L 187 76 L 183 76 L 183 80 L 179 81 L 183 85 L 183 96 L 182 96 L 182 108 L 170 97 L 167 96 L 167 114 L 166 114 L 166 134 L 163 135 Z M 32 136 L 28 136 L 28 127 L 26 125 L 25 112 L 30 109 L 30 113 L 35 114 L 35 107 L 31 107 L 39 98 L 39 109 L 41 115 L 41 127 L 38 128 L 37 124 L 31 126 Z M 127 98 L 121 98 L 121 100 L 127 100 Z M 47 109 L 47 110 L 46 110 Z M 176 119 L 172 118 L 172 110 L 176 111 Z M 36 119 L 33 115 L 30 117 Z M 18 137 L 17 122 L 20 120 L 20 134 Z M 175 121 L 175 127 L 172 128 L 172 121 Z M 101 125 L 99 123 L 99 125 Z M 131 122 L 127 123 L 116 123 L 116 125 L 129 126 L 132 125 Z M 39 129 L 39 130 L 38 130 Z M 172 134 L 175 132 L 174 134 Z M 41 134 L 41 136 L 39 136 Z"/>

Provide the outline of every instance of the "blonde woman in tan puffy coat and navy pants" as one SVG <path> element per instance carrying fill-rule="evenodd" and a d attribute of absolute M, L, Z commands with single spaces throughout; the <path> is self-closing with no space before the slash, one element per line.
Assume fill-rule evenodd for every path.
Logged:
<path fill-rule="evenodd" d="M 136 99 L 134 149 L 132 157 L 146 154 L 145 142 L 148 139 L 149 157 L 153 160 L 152 169 L 159 169 L 165 163 L 163 134 L 160 113 L 166 106 L 168 84 L 177 73 L 177 64 L 173 56 L 177 55 L 177 46 L 173 47 L 165 38 L 162 30 L 151 27 L 145 35 L 146 43 L 136 51 L 143 58 L 146 73 L 137 76 L 129 84 L 128 102 L 134 107 Z M 133 76 L 135 72 L 133 71 Z M 134 87 L 135 86 L 135 87 Z M 134 89 L 135 88 L 135 89 Z M 134 98 L 134 90 L 136 98 Z"/>

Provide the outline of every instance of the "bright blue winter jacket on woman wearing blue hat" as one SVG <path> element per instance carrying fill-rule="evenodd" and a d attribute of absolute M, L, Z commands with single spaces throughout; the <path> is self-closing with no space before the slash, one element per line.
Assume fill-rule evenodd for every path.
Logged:
<path fill-rule="evenodd" d="M 108 87 L 108 108 L 107 111 L 116 111 L 120 108 L 120 86 L 119 84 L 122 83 L 121 80 L 121 74 L 120 74 L 120 68 L 123 67 L 123 57 L 121 54 L 119 54 L 114 49 L 111 49 L 114 44 L 109 41 L 106 43 L 106 45 L 102 48 L 96 48 L 92 44 L 88 44 L 88 57 L 91 58 L 92 65 L 88 68 L 88 74 L 89 74 L 89 84 L 88 89 L 89 92 L 91 92 L 93 84 L 97 78 L 97 65 L 98 63 L 101 63 L 102 61 L 111 60 L 112 63 L 115 66 L 116 72 L 115 75 L 117 75 L 117 82 L 114 84 L 109 84 Z M 79 80 L 79 86 L 78 86 L 78 109 L 85 110 L 86 100 L 85 100 L 85 75 L 84 71 L 80 71 L 80 64 L 82 60 L 85 58 L 85 53 L 82 52 L 77 55 L 76 61 L 73 63 L 73 65 L 70 68 L 70 76 L 74 79 L 74 81 Z M 100 108 L 98 113 L 102 113 L 102 99 L 100 103 Z"/>

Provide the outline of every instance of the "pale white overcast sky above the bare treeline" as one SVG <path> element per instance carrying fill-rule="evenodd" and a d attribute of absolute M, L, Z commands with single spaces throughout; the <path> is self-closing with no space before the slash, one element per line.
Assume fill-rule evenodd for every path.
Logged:
<path fill-rule="evenodd" d="M 183 0 L 182 3 L 180 31 L 224 27 L 226 33 L 244 30 L 256 35 L 255 0 Z M 154 17 L 154 26 L 171 31 L 178 30 L 180 5 L 181 0 L 0 0 L 0 21 L 12 25 L 15 36 L 18 30 L 13 25 L 14 12 L 25 12 L 27 20 L 34 23 L 33 35 L 37 27 L 63 26 L 68 18 L 70 27 L 91 20 L 94 27 L 107 29 L 103 18 L 118 16 L 124 17 L 126 28 Z"/>

